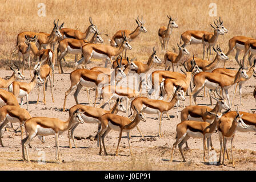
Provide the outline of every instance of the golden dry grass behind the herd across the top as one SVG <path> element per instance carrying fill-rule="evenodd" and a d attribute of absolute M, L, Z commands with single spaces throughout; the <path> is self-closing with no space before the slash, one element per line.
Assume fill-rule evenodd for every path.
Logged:
<path fill-rule="evenodd" d="M 45 3 L 46 16 L 39 17 L 38 3 Z M 117 30 L 134 30 L 135 18 L 143 15 L 147 33 L 131 43 L 133 49 L 128 55 L 139 60 L 147 60 L 153 46 L 160 51 L 157 32 L 159 27 L 167 26 L 166 14 L 178 18 L 178 29 L 173 30 L 169 50 L 177 51 L 177 43 L 186 30 L 213 31 L 210 23 L 217 17 L 209 16 L 210 3 L 217 4 L 217 16 L 221 16 L 228 34 L 220 36 L 218 43 L 226 52 L 228 40 L 233 36 L 255 37 L 255 11 L 253 1 L 0 1 L 0 59 L 9 59 L 17 35 L 22 31 L 50 32 L 53 20 L 65 22 L 64 27 L 85 31 L 89 25 L 89 16 L 102 32 L 111 36 Z M 241 8 L 242 7 L 242 8 Z M 106 39 L 105 39 L 106 40 Z M 107 40 L 106 40 L 107 41 Z M 106 44 L 109 44 L 107 42 Z M 191 54 L 201 54 L 202 46 L 190 46 Z"/>

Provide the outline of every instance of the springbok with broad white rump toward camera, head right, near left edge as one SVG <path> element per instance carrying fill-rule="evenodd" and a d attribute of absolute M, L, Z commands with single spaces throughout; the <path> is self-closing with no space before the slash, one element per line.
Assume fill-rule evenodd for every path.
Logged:
<path fill-rule="evenodd" d="M 9 85 L 9 92 L 13 93 L 15 97 L 21 98 L 21 106 L 23 105 L 23 97 L 27 98 L 27 110 L 29 110 L 29 93 L 35 87 L 36 84 L 43 84 L 43 80 L 40 77 L 39 72 L 34 71 L 34 77 L 27 82 L 14 81 Z"/>

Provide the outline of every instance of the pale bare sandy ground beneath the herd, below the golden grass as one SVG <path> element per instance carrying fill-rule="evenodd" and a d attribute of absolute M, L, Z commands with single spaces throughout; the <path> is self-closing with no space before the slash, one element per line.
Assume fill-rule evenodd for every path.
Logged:
<path fill-rule="evenodd" d="M 100 62 L 99 62 L 100 63 Z M 231 60 L 229 63 L 232 63 Z M 102 62 L 103 64 L 103 62 Z M 98 64 L 99 65 L 99 64 Z M 91 67 L 91 64 L 90 66 Z M 235 66 L 237 68 L 237 66 Z M 162 68 L 161 68 L 162 69 Z M 29 112 L 34 116 L 54 117 L 67 120 L 68 112 L 62 112 L 65 92 L 69 89 L 69 73 L 73 69 L 66 69 L 66 73 L 59 75 L 55 71 L 54 100 L 51 102 L 50 87 L 46 92 L 46 105 L 42 102 L 36 104 L 37 88 L 33 89 L 29 95 Z M 153 71 L 153 70 L 152 70 Z M 0 77 L 10 76 L 11 71 L 1 70 Z M 26 82 L 29 82 L 29 72 L 25 71 Z M 250 78 L 243 85 L 243 103 L 245 106 L 239 106 L 239 111 L 251 113 L 255 110 L 255 100 L 253 98 L 255 80 Z M 230 96 L 233 93 L 233 87 L 229 89 Z M 69 109 L 75 105 L 73 92 L 67 97 L 66 108 Z M 94 92 L 91 92 L 93 98 Z M 40 101 L 42 101 L 42 92 Z M 202 92 L 197 98 L 198 104 L 209 105 L 209 98 L 202 97 Z M 78 101 L 82 104 L 88 104 L 86 92 L 82 89 L 79 93 Z M 239 97 L 235 98 L 233 110 L 239 103 Z M 25 101 L 26 104 L 26 101 Z M 186 105 L 189 104 L 189 97 L 186 99 Z M 26 109 L 26 105 L 23 105 Z M 105 107 L 106 109 L 108 106 Z M 183 107 L 179 107 L 181 111 Z M 98 154 L 99 148 L 97 141 L 91 135 L 96 134 L 97 125 L 84 123 L 77 127 L 74 135 L 80 137 L 76 140 L 77 148 L 69 148 L 67 132 L 59 137 L 60 153 L 63 160 L 62 164 L 57 164 L 55 160 L 55 138 L 54 136 L 46 137 L 46 142 L 41 143 L 38 138 L 31 142 L 32 148 L 29 148 L 31 163 L 22 161 L 21 153 L 21 133 L 5 131 L 3 133 L 3 144 L 0 147 L 0 169 L 1 170 L 255 170 L 256 169 L 256 137 L 255 133 L 236 133 L 234 138 L 234 160 L 237 165 L 232 167 L 231 160 L 225 160 L 225 166 L 222 168 L 219 164 L 210 165 L 203 162 L 202 139 L 189 139 L 189 151 L 184 151 L 186 163 L 182 162 L 178 149 L 175 150 L 174 162 L 170 162 L 170 147 L 173 145 L 176 136 L 176 125 L 180 122 L 179 118 L 174 117 L 176 108 L 172 109 L 169 114 L 171 120 L 168 121 L 166 116 L 163 118 L 162 131 L 163 138 L 158 137 L 158 121 L 154 119 L 155 115 L 147 115 L 146 122 L 140 122 L 139 127 L 145 135 L 141 139 L 137 129 L 131 131 L 131 150 L 134 158 L 130 157 L 129 146 L 126 134 L 123 134 L 119 147 L 119 155 L 115 156 L 115 149 L 118 142 L 118 132 L 111 131 L 105 140 L 108 156 Z M 123 113 L 119 113 L 123 114 Z M 18 127 L 15 124 L 14 127 Z M 219 139 L 218 134 L 213 134 L 213 145 L 215 147 L 216 160 L 219 156 Z M 227 144 L 230 152 L 230 142 Z M 45 164 L 38 163 L 41 154 L 45 152 Z M 230 153 L 231 156 L 231 153 Z M 215 160 L 215 161 L 216 161 Z"/>

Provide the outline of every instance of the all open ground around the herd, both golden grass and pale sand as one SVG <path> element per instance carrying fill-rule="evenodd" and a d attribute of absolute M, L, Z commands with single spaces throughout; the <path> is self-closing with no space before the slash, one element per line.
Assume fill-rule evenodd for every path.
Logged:
<path fill-rule="evenodd" d="M 39 3 L 45 4 L 45 16 L 38 16 Z M 217 5 L 217 16 L 210 16 L 211 7 L 209 5 L 215 3 Z M 147 0 L 147 1 L 127 1 L 127 0 L 94 0 L 94 1 L 17 1 L 17 0 L 0 0 L 0 77 L 6 78 L 11 75 L 9 65 L 12 61 L 18 60 L 17 52 L 13 59 L 10 59 L 11 50 L 14 48 L 19 32 L 35 31 L 50 33 L 54 24 L 54 19 L 62 23 L 64 27 L 74 28 L 84 32 L 89 26 L 89 17 L 93 19 L 93 23 L 102 34 L 108 34 L 111 39 L 118 30 L 134 30 L 137 27 L 135 19 L 137 16 L 145 20 L 146 33 L 141 33 L 138 38 L 131 42 L 133 49 L 127 51 L 129 58 L 137 57 L 137 60 L 146 61 L 153 52 L 153 47 L 157 49 L 157 54 L 161 53 L 161 45 L 158 39 L 158 29 L 161 26 L 167 26 L 169 19 L 177 18 L 178 28 L 173 29 L 169 42 L 169 51 L 178 53 L 177 43 L 180 41 L 182 32 L 187 30 L 205 30 L 213 32 L 210 23 L 213 24 L 214 19 L 221 16 L 223 25 L 227 28 L 228 33 L 219 35 L 217 44 L 220 45 L 223 52 L 228 50 L 228 42 L 233 36 L 248 36 L 256 38 L 255 32 L 255 1 L 169 1 L 169 0 Z M 59 24 L 60 24 L 59 23 Z M 104 44 L 109 45 L 109 41 L 105 36 Z M 190 56 L 202 57 L 202 45 L 187 46 Z M 56 52 L 56 51 L 55 51 Z M 215 53 L 214 53 L 215 55 Z M 238 68 L 234 60 L 235 53 L 229 55 L 226 65 L 229 68 Z M 243 53 L 240 54 L 241 59 Z M 57 56 L 55 56 L 57 58 Z M 185 59 L 189 56 L 185 56 Z M 162 57 L 161 57 L 162 59 Z M 29 112 L 32 116 L 56 117 L 67 120 L 68 112 L 62 112 L 64 94 L 70 86 L 69 73 L 74 70 L 74 55 L 67 55 L 67 63 L 65 73 L 58 74 L 58 68 L 55 67 L 55 86 L 54 96 L 55 102 L 51 102 L 50 88 L 46 93 L 46 105 L 37 101 L 37 88 L 34 88 L 30 94 Z M 162 59 L 163 61 L 163 59 Z M 55 61 L 57 62 L 57 61 Z M 93 66 L 103 67 L 103 61 L 92 61 L 90 68 Z M 20 65 L 20 64 L 19 64 Z M 70 66 L 71 65 L 71 66 Z M 223 63 L 219 63 L 222 67 Z M 247 65 L 247 62 L 246 62 Z M 32 64 L 34 67 L 34 63 Z M 27 68 L 27 66 L 25 67 Z M 155 70 L 163 70 L 161 66 L 154 64 Z M 26 82 L 31 80 L 29 72 L 24 73 Z M 234 100 L 235 109 L 239 106 L 239 110 L 252 112 L 255 111 L 255 100 L 253 98 L 253 89 L 255 86 L 254 78 L 243 85 L 243 103 L 240 106 L 239 97 Z M 67 98 L 67 109 L 75 105 L 72 92 Z M 94 98 L 94 92 L 91 92 L 91 98 Z M 230 88 L 230 97 L 233 93 L 233 87 Z M 42 100 L 42 93 L 41 93 Z M 19 99 L 18 99 L 19 101 Z M 85 91 L 79 94 L 79 101 L 87 104 L 87 96 Z M 101 102 L 101 101 L 99 101 Z M 99 104 L 97 102 L 97 104 Z M 209 98 L 202 97 L 202 93 L 198 97 L 199 104 L 209 105 Z M 186 97 L 186 106 L 189 105 L 189 97 Z M 26 105 L 23 105 L 26 109 Z M 108 107 L 106 107 L 108 108 Z M 181 111 L 183 107 L 180 107 Z M 121 113 L 122 114 L 122 113 Z M 0 170 L 255 170 L 256 168 L 256 139 L 255 133 L 236 133 L 234 139 L 234 158 L 237 168 L 232 167 L 231 160 L 226 160 L 223 168 L 217 165 L 209 165 L 203 163 L 202 139 L 190 139 L 190 150 L 184 151 L 186 163 L 182 163 L 181 155 L 178 149 L 174 154 L 174 162 L 170 162 L 170 147 L 175 142 L 176 126 L 180 122 L 180 118 L 175 116 L 176 107 L 170 111 L 171 120 L 167 121 L 163 118 L 162 130 L 163 138 L 157 136 L 158 121 L 152 115 L 146 115 L 147 123 L 140 122 L 139 127 L 145 134 L 142 139 L 134 129 L 131 132 L 131 149 L 134 152 L 134 158 L 130 158 L 129 146 L 127 138 L 123 134 L 119 147 L 119 156 L 114 156 L 115 148 L 118 141 L 118 133 L 110 132 L 106 137 L 107 151 L 110 155 L 102 156 L 98 154 L 97 141 L 90 135 L 95 135 L 96 125 L 84 123 L 79 125 L 74 135 L 78 148 L 69 148 L 67 132 L 65 132 L 60 140 L 60 152 L 63 159 L 62 164 L 57 164 L 55 160 L 55 139 L 54 135 L 46 137 L 46 142 L 41 143 L 38 138 L 31 142 L 32 148 L 29 148 L 29 154 L 32 162 L 24 163 L 21 155 L 21 136 L 20 133 L 2 132 L 3 143 L 6 147 L 0 147 Z M 16 123 L 17 124 L 17 123 Z M 14 127 L 18 127 L 14 125 Z M 89 137 L 88 137 L 89 136 Z M 81 139 L 81 137 L 84 137 Z M 219 156 L 219 139 L 218 134 L 214 134 L 213 144 L 216 151 L 216 158 Z M 184 145 L 185 146 L 185 145 Z M 227 144 L 230 153 L 230 143 Z M 39 151 L 46 154 L 46 163 L 38 164 Z M 207 155 L 206 155 L 207 156 Z M 231 156 L 231 153 L 230 153 Z M 216 160 L 217 160 L 216 159 Z"/>

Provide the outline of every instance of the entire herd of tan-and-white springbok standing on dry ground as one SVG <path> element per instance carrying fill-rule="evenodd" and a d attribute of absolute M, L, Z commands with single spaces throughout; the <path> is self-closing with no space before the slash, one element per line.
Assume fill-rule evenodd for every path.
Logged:
<path fill-rule="evenodd" d="M 183 102 L 184 109 L 181 111 L 181 122 L 177 125 L 176 141 L 173 143 L 171 150 L 171 160 L 173 161 L 174 150 L 178 145 L 181 152 L 183 162 L 182 146 L 189 138 L 202 138 L 203 139 L 203 160 L 205 159 L 205 150 L 207 149 L 209 156 L 209 148 L 213 150 L 211 143 L 211 135 L 218 131 L 219 143 L 221 150 L 219 154 L 219 163 L 222 166 L 225 160 L 225 153 L 229 159 L 226 143 L 227 140 L 231 141 L 231 155 L 233 160 L 232 142 L 235 136 L 235 131 L 247 132 L 256 131 L 256 114 L 238 111 L 230 111 L 233 106 L 233 100 L 237 86 L 239 86 L 240 104 L 242 105 L 242 84 L 244 84 L 253 74 L 256 74 L 255 62 L 253 56 L 256 54 L 256 40 L 245 36 L 234 36 L 229 40 L 229 51 L 223 53 L 221 47 L 215 46 L 219 35 L 227 34 L 228 30 L 223 26 L 221 18 L 214 20 L 210 24 L 214 29 L 213 32 L 208 31 L 194 31 L 189 30 L 183 32 L 180 37 L 180 42 L 177 43 L 178 54 L 168 51 L 168 44 L 173 28 L 178 28 L 175 22 L 177 19 L 171 18 L 167 15 L 168 25 L 159 28 L 158 38 L 161 43 L 161 59 L 165 61 L 165 71 L 157 70 L 150 72 L 153 63 L 162 63 L 161 59 L 156 54 L 155 48 L 149 55 L 146 64 L 135 59 L 126 57 L 127 50 L 129 52 L 131 42 L 137 38 L 141 32 L 146 33 L 145 21 L 143 17 L 141 20 L 139 16 L 135 19 L 137 27 L 135 30 L 119 30 L 113 38 L 109 40 L 109 35 L 101 34 L 97 26 L 90 20 L 90 26 L 85 32 L 74 30 L 71 28 L 63 28 L 62 23 L 59 26 L 58 22 L 54 20 L 54 27 L 50 34 L 45 32 L 21 32 L 17 36 L 17 44 L 13 49 L 13 53 L 18 51 L 19 59 L 22 56 L 23 64 L 20 71 L 17 65 L 12 65 L 10 68 L 13 71 L 9 80 L 0 78 L 1 88 L 7 88 L 9 92 L 0 89 L 0 143 L 2 143 L 1 129 L 5 125 L 18 122 L 21 127 L 21 140 L 22 140 L 22 158 L 24 161 L 30 162 L 27 147 L 30 146 L 31 140 L 38 136 L 44 142 L 45 136 L 55 135 L 56 154 L 55 158 L 61 163 L 59 156 L 59 134 L 64 131 L 69 133 L 69 146 L 71 148 L 71 138 L 74 145 L 74 130 L 79 123 L 98 123 L 97 144 L 99 146 L 99 155 L 102 154 L 101 143 L 103 144 L 104 154 L 107 155 L 104 139 L 110 130 L 119 131 L 119 138 L 117 150 L 115 155 L 118 155 L 118 146 L 121 141 L 122 133 L 126 132 L 129 143 L 130 155 L 132 156 L 130 148 L 130 131 L 137 127 L 139 133 L 141 130 L 138 123 L 142 120 L 146 121 L 146 114 L 157 114 L 159 121 L 158 135 L 163 137 L 161 131 L 161 122 L 163 114 L 166 114 L 170 119 L 168 111 L 175 105 L 177 106 L 177 118 L 179 118 L 179 102 Z M 89 39 L 89 36 L 91 38 Z M 103 44 L 101 35 L 107 37 L 110 45 Z M 182 44 L 183 41 L 183 44 Z M 202 44 L 203 57 L 191 56 L 190 59 L 182 61 L 185 55 L 190 55 L 187 46 L 190 44 Z M 46 48 L 46 46 L 50 48 Z M 61 121 L 58 118 L 48 117 L 31 117 L 29 110 L 29 93 L 38 84 L 39 92 L 40 87 L 43 86 L 45 101 L 45 89 L 47 81 L 50 81 L 50 88 L 54 86 L 54 65 L 55 65 L 55 46 L 57 47 L 57 63 L 59 74 L 63 73 L 62 59 L 65 60 L 67 53 L 75 55 L 76 69 L 70 73 L 70 88 L 65 92 L 65 100 L 63 103 L 63 111 L 66 111 L 67 96 L 71 91 L 75 90 L 74 98 L 77 105 L 70 107 L 69 119 Z M 205 58 L 205 48 L 207 60 Z M 211 49 L 212 48 L 212 49 Z M 225 69 L 225 61 L 229 60 L 229 54 L 236 49 L 235 60 L 239 65 L 238 70 Z M 214 52 L 213 52 L 214 51 Z M 240 51 L 244 51 L 243 59 L 238 60 Z M 77 55 L 81 54 L 81 59 L 77 59 Z M 34 55 L 33 61 L 35 63 L 33 73 L 30 71 L 30 55 Z M 121 56 L 122 55 L 122 56 Z M 215 55 L 215 58 L 210 61 L 210 55 Z M 248 60 L 250 65 L 249 70 L 245 68 L 245 57 L 249 55 Z M 11 55 L 12 57 L 12 55 Z M 93 67 L 86 69 L 86 65 L 92 63 L 94 59 L 105 60 L 105 67 Z M 113 61 L 115 60 L 115 61 Z M 18 79 L 24 79 L 23 70 L 25 62 L 29 64 L 29 72 L 31 81 L 19 82 Z M 224 63 L 224 68 L 218 68 L 219 62 Z M 182 63 L 181 63 L 182 62 Z M 107 68 L 111 63 L 111 68 Z M 181 71 L 178 72 L 179 66 L 183 65 Z M 83 69 L 77 69 L 81 67 Z M 172 71 L 170 71 L 172 68 Z M 134 89 L 125 84 L 121 84 L 129 73 L 137 73 L 138 75 L 148 73 L 146 78 L 139 77 L 139 89 Z M 114 76 L 114 80 L 111 79 Z M 127 77 L 126 77 L 127 76 Z M 112 81 L 111 81 L 112 80 Z M 234 94 L 232 101 L 229 98 L 229 88 L 234 85 Z M 89 105 L 79 104 L 77 97 L 79 91 L 85 86 Z M 188 88 L 190 86 L 190 93 Z M 90 89 L 95 89 L 94 103 L 90 99 Z M 146 90 L 146 97 L 142 96 L 142 90 Z M 197 95 L 201 90 L 206 90 L 205 95 L 209 95 L 210 103 L 213 105 L 212 98 L 217 101 L 217 104 L 212 108 L 209 106 L 198 106 Z M 38 100 L 39 100 L 38 92 Z M 190 105 L 185 107 L 185 93 L 190 97 Z M 53 90 L 51 90 L 52 101 L 54 102 Z M 95 105 L 100 97 L 100 104 Z M 21 98 L 21 104 L 18 104 L 17 98 Z M 27 110 L 22 109 L 23 97 L 26 97 Z M 193 97 L 195 105 L 191 104 L 191 97 Z M 254 90 L 255 98 L 255 90 Z M 38 103 L 37 100 L 37 103 Z M 114 106 L 110 110 L 103 109 L 107 104 L 110 106 L 110 101 L 114 100 Z M 123 102 L 126 101 L 126 107 Z M 130 115 L 129 115 L 130 108 Z M 118 111 L 126 113 L 126 117 L 118 115 Z M 26 131 L 26 138 L 22 138 L 24 127 Z M 19 128 L 18 127 L 18 128 Z M 15 129 L 17 130 L 17 129 Z M 142 133 L 141 136 L 143 137 Z M 175 137 L 175 136 L 174 136 Z M 207 148 L 206 148 L 207 140 Z M 26 152 L 26 158 L 25 158 Z"/>

